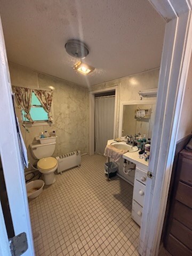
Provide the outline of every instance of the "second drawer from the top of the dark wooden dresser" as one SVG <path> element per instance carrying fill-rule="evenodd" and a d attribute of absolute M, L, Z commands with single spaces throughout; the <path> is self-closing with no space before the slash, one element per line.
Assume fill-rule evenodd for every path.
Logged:
<path fill-rule="evenodd" d="M 179 181 L 178 189 L 177 189 L 177 194 L 176 194 L 176 199 L 189 206 L 192 208 L 192 187 L 182 183 Z"/>

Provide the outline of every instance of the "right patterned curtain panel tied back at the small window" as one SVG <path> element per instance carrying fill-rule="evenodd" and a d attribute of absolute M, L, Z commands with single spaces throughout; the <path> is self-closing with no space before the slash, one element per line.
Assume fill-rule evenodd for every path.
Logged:
<path fill-rule="evenodd" d="M 53 91 L 44 91 L 44 90 L 33 90 L 37 99 L 41 102 L 42 107 L 48 113 L 48 121 L 53 122 L 51 114 L 51 103 L 53 99 Z"/>

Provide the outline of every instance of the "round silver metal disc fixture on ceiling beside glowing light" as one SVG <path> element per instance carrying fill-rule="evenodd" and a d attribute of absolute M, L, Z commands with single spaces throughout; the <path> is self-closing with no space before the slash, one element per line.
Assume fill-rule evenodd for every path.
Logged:
<path fill-rule="evenodd" d="M 86 44 L 76 39 L 67 41 L 65 49 L 69 55 L 79 59 L 84 59 L 89 54 Z"/>

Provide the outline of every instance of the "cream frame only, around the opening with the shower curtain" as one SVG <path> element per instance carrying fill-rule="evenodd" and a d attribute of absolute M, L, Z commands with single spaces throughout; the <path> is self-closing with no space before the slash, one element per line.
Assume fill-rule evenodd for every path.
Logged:
<path fill-rule="evenodd" d="M 114 111 L 114 132 L 113 132 L 113 138 L 114 139 L 117 136 L 117 111 L 118 111 L 118 85 L 110 86 L 107 88 L 102 88 L 98 90 L 93 90 L 89 92 L 89 105 L 90 105 L 90 111 L 89 111 L 89 155 L 94 155 L 94 109 L 95 109 L 95 102 L 94 102 L 94 96 L 96 93 L 102 93 L 102 92 L 111 92 L 115 90 L 115 111 Z"/>

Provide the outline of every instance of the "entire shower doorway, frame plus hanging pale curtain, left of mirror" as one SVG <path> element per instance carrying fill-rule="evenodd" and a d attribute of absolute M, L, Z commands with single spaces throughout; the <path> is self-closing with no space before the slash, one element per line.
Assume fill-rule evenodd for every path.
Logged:
<path fill-rule="evenodd" d="M 108 103 L 111 102 L 113 106 L 110 106 L 110 103 L 109 103 L 108 110 L 106 111 L 106 113 L 103 113 L 105 106 L 108 105 L 108 103 L 106 102 Z M 118 85 L 111 86 L 105 89 L 90 91 L 89 155 L 94 155 L 94 153 L 103 154 L 104 153 L 103 148 L 105 149 L 105 146 L 107 145 L 107 140 L 114 139 L 115 137 L 117 137 L 118 135 L 117 111 L 118 111 Z M 100 115 L 100 121 L 98 116 L 99 113 L 102 113 L 102 117 Z M 96 121 L 95 121 L 95 117 L 97 117 Z M 101 123 L 102 119 L 105 119 L 105 122 Z M 110 130 L 110 134 L 105 134 L 105 132 L 103 131 L 102 133 L 101 129 L 99 129 L 99 126 L 104 131 Z M 98 141 L 95 141 L 95 135 L 97 138 L 99 138 Z M 102 139 L 103 140 L 102 146 L 100 143 L 101 137 L 104 138 Z"/>

